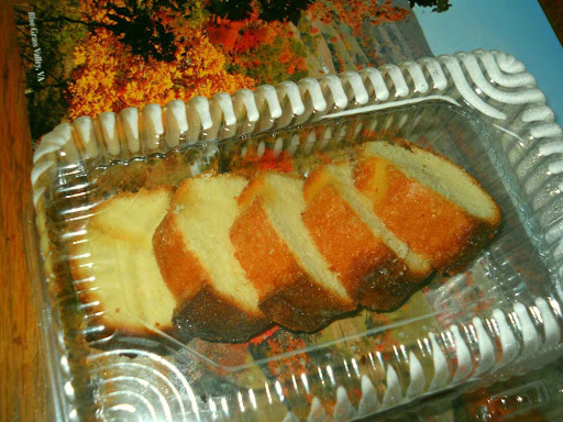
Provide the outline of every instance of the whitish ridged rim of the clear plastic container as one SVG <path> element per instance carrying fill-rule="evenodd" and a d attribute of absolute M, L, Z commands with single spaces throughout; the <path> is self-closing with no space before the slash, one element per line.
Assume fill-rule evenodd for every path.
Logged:
<path fill-rule="evenodd" d="M 54 175 L 62 163 L 67 168 L 84 168 L 89 163 L 107 165 L 151 153 L 166 153 L 201 141 L 253 135 L 321 119 L 432 99 L 472 109 L 504 132 L 506 140 L 501 140 L 501 143 L 506 144 L 505 153 L 509 158 L 515 155 L 517 147 L 510 145 L 515 137 L 539 141 L 539 155 L 553 158 L 549 164 L 550 174 L 563 174 L 563 131 L 545 104 L 544 95 L 536 87 L 533 76 L 509 54 L 477 49 L 345 71 L 338 76 L 327 75 L 319 79 L 285 81 L 277 87 L 261 86 L 254 91 L 242 89 L 232 96 L 221 92 L 210 99 L 196 97 L 186 103 L 176 100 L 165 107 L 148 104 L 142 109 L 125 109 L 118 114 L 101 113 L 95 119 L 78 118 L 73 123 L 58 125 L 41 138 L 31 175 L 33 203 L 40 208 L 43 195 L 53 188 Z M 523 169 L 525 165 L 529 165 L 514 164 Z M 541 229 L 548 233 L 548 241 L 555 245 L 551 247 L 555 251 L 553 254 L 563 257 L 563 226 Z M 563 266 L 559 276 L 562 275 Z M 426 379 L 421 364 L 411 354 L 408 359 L 409 385 L 401 384 L 391 365 L 385 367 L 386 392 L 382 400 L 365 376 L 362 378 L 358 408 L 352 406 L 345 388 L 338 387 L 334 420 L 350 420 L 406 403 L 470 381 L 492 369 L 501 373 L 501 368 L 509 363 L 534 359 L 541 366 L 545 356 L 561 349 L 561 287 L 556 293 L 559 298 L 537 297 L 533 303 L 527 304 L 514 302 L 510 309 L 494 309 L 485 320 L 475 316 L 468 324 L 453 324 L 442 333 L 430 333 L 434 376 L 428 390 L 423 388 Z M 534 315 L 533 321 L 530 314 Z M 518 327 L 518 333 L 515 334 L 509 322 Z M 485 325 L 494 326 L 497 332 L 500 357 Z M 462 333 L 470 331 L 478 338 L 479 359 L 476 366 L 472 352 L 462 338 Z M 444 355 L 435 341 L 438 336 L 448 337 L 454 346 L 456 369 L 453 375 L 448 369 L 450 357 Z M 139 353 L 146 354 L 142 351 Z M 156 356 L 147 358 L 163 364 Z M 187 386 L 189 389 L 181 373 L 178 371 L 176 376 L 179 387 L 175 388 L 183 390 Z M 243 398 L 240 400 L 242 402 Z M 325 417 L 321 401 L 313 398 L 309 420 L 321 421 Z M 291 418 L 288 414 L 286 419 Z"/>

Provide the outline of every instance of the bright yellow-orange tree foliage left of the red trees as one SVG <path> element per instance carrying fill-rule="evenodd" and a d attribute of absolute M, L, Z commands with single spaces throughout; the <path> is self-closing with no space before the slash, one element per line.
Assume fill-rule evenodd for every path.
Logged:
<path fill-rule="evenodd" d="M 175 59 L 164 62 L 132 54 L 103 27 L 89 34 L 75 48 L 69 118 L 255 86 L 253 78 L 227 70 L 228 57 L 201 30 L 181 25 L 175 35 Z"/>

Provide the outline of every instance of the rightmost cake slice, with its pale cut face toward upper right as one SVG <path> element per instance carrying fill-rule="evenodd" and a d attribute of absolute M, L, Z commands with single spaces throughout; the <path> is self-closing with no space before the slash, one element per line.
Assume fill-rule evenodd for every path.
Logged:
<path fill-rule="evenodd" d="M 411 144 L 364 144 L 355 186 L 383 223 L 441 273 L 474 258 L 500 223 L 497 204 L 473 177 Z"/>

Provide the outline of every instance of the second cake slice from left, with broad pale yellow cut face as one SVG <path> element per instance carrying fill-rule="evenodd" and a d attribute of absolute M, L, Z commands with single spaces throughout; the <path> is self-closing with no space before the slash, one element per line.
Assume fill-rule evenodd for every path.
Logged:
<path fill-rule="evenodd" d="M 154 233 L 161 273 L 178 301 L 174 322 L 201 338 L 243 342 L 272 324 L 229 235 L 245 186 L 230 175 L 184 181 Z"/>

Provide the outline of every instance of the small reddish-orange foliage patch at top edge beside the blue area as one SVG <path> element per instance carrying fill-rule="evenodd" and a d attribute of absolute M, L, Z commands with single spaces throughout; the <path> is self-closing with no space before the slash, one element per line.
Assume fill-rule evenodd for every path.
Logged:
<path fill-rule="evenodd" d="M 358 33 L 364 23 L 378 25 L 386 22 L 404 21 L 409 11 L 391 4 L 390 0 L 317 0 L 307 9 L 311 19 L 329 24 L 340 21 Z"/>

